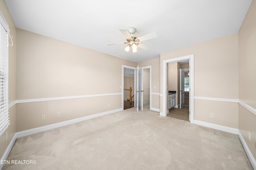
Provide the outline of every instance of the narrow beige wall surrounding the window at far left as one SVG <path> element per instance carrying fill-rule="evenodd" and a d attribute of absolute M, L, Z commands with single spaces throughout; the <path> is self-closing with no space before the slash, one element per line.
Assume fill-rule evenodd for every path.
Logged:
<path fill-rule="evenodd" d="M 10 34 L 14 37 L 12 39 L 13 46 L 9 46 L 9 103 L 14 102 L 16 100 L 16 26 L 12 20 L 12 17 L 10 16 L 10 13 L 8 11 L 8 8 L 6 7 L 6 4 L 4 0 L 0 0 L 0 12 L 4 16 L 5 20 L 7 21 L 9 28 L 10 28 Z M 11 42 L 11 41 L 10 41 Z M 10 115 L 10 125 L 7 129 L 8 131 L 8 138 L 5 140 L 5 134 L 3 134 L 0 137 L 0 158 L 4 154 L 6 148 L 8 147 L 12 137 L 16 133 L 16 106 L 12 106 L 9 109 L 9 115 Z"/>

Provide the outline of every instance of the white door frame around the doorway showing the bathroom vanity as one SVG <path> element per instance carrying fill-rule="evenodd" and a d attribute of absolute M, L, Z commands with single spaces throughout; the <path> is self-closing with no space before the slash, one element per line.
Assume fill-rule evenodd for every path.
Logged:
<path fill-rule="evenodd" d="M 182 57 L 176 57 L 173 59 L 167 59 L 163 60 L 163 73 L 162 73 L 162 112 L 160 112 L 160 116 L 166 117 L 166 105 L 167 105 L 167 63 L 174 63 L 174 62 L 179 62 L 183 60 L 188 60 L 189 59 L 189 65 L 190 65 L 190 72 L 189 72 L 189 78 L 190 78 L 190 123 L 194 123 L 194 54 L 192 55 L 186 55 Z"/>

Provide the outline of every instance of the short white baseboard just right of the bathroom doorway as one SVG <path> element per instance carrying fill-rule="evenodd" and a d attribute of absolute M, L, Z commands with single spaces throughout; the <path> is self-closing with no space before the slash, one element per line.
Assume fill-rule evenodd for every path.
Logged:
<path fill-rule="evenodd" d="M 238 135 L 238 129 L 236 129 L 236 128 L 217 125 L 217 124 L 214 124 L 214 123 L 208 123 L 208 122 L 199 121 L 199 120 L 194 120 L 194 124 L 204 126 L 204 127 L 210 127 L 212 129 L 217 129 L 217 130 L 220 130 L 220 131 L 224 131 L 224 132 L 228 132 L 228 133 L 234 133 L 234 134 Z"/>

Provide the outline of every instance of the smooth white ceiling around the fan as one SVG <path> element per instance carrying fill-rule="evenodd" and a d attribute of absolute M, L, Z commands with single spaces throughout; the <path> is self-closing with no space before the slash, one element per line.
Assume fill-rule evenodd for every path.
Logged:
<path fill-rule="evenodd" d="M 17 28 L 134 62 L 238 33 L 252 0 L 5 0 Z M 148 51 L 124 51 L 119 29 L 136 28 Z M 14 37 L 15 38 L 15 37 Z M 139 47 L 139 45 L 138 45 Z"/>

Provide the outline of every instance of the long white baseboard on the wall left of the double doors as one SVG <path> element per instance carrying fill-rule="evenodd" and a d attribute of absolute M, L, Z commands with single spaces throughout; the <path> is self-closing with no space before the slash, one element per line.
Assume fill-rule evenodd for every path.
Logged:
<path fill-rule="evenodd" d="M 122 111 L 122 109 L 120 108 L 120 109 L 105 111 L 105 112 L 97 113 L 97 114 L 94 114 L 94 115 L 88 115 L 88 116 L 85 116 L 85 117 L 80 117 L 80 118 L 71 119 L 71 120 L 68 120 L 68 121 L 62 121 L 62 122 L 59 122 L 59 123 L 54 123 L 54 124 L 51 124 L 51 125 L 36 127 L 36 128 L 28 129 L 28 130 L 25 130 L 25 131 L 20 131 L 20 132 L 16 133 L 16 137 L 19 138 L 19 137 L 28 136 L 28 135 L 32 135 L 32 134 L 43 132 L 43 131 L 48 131 L 50 129 L 55 129 L 55 128 L 66 126 L 66 125 L 71 125 L 73 123 L 78 123 L 80 121 L 85 121 L 85 120 L 88 120 L 88 119 L 93 119 L 93 118 L 108 115 L 108 114 L 111 114 L 111 113 L 116 113 L 118 111 Z"/>

